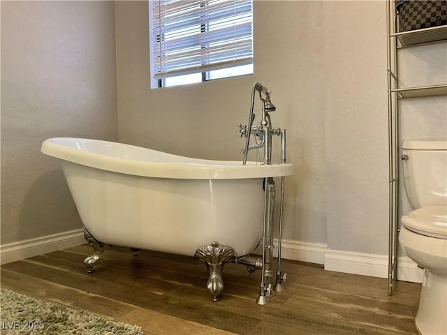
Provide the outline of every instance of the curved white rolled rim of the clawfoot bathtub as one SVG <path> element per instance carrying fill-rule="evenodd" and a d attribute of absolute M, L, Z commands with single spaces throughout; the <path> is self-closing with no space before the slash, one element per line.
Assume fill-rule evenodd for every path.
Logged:
<path fill-rule="evenodd" d="M 89 166 L 100 170 L 131 174 L 140 177 L 173 178 L 173 179 L 246 179 L 283 177 L 293 174 L 293 164 L 281 163 L 272 165 L 256 165 L 254 162 L 242 161 L 213 161 L 203 160 L 173 154 L 164 153 L 188 162 L 150 162 L 136 161 L 125 158 L 96 154 L 91 151 L 75 149 L 64 145 L 65 142 L 94 141 L 108 145 L 120 145 L 132 147 L 138 150 L 156 151 L 145 147 L 138 147 L 121 142 L 95 140 L 83 137 L 52 137 L 45 140 L 41 145 L 41 152 L 47 156 L 59 158 L 64 161 Z"/>

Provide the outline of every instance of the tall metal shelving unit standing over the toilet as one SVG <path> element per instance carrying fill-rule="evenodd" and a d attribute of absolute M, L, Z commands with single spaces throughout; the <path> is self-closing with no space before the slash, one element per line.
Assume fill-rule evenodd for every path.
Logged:
<path fill-rule="evenodd" d="M 425 87 L 400 87 L 397 66 L 399 50 L 432 43 L 446 43 L 447 25 L 398 32 L 395 0 L 387 1 L 388 32 L 388 157 L 389 157 L 389 232 L 388 295 L 393 295 L 397 277 L 397 237 L 399 234 L 399 103 L 402 98 L 420 98 L 447 94 L 447 83 Z"/>

